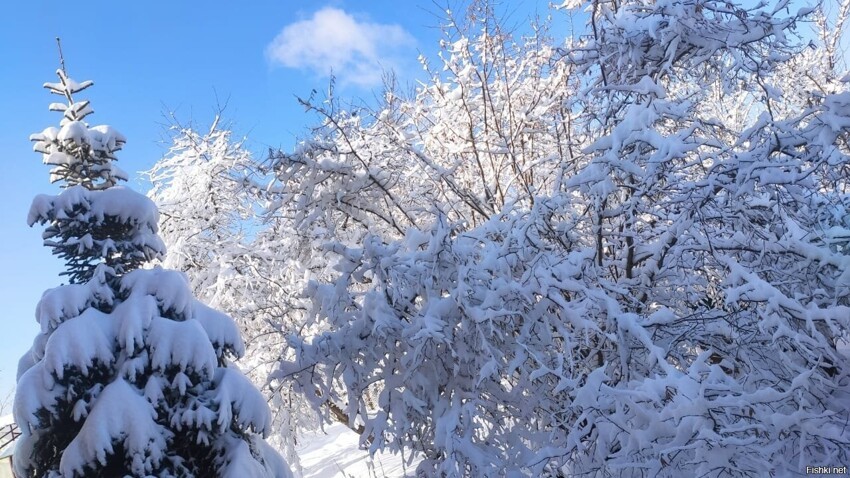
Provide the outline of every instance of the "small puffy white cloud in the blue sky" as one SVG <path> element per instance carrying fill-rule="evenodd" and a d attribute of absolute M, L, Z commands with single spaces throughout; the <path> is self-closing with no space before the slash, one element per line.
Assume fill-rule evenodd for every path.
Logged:
<path fill-rule="evenodd" d="M 414 45 L 399 25 L 358 21 L 343 10 L 325 7 L 307 20 L 284 27 L 266 47 L 272 64 L 334 76 L 358 86 L 377 86 L 382 69 Z"/>

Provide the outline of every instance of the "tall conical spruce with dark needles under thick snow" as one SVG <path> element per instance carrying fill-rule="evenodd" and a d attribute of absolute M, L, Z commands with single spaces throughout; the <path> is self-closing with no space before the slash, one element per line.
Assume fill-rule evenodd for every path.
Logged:
<path fill-rule="evenodd" d="M 68 264 L 72 284 L 38 304 L 41 333 L 21 359 L 15 420 L 20 477 L 289 477 L 262 439 L 262 394 L 228 358 L 244 353 L 235 323 L 197 301 L 182 273 L 140 269 L 164 253 L 156 206 L 115 186 L 124 138 L 90 128 L 88 102 L 59 71 L 47 84 L 68 105 L 61 127 L 33 136 L 64 181 L 38 196 L 29 223 Z"/>

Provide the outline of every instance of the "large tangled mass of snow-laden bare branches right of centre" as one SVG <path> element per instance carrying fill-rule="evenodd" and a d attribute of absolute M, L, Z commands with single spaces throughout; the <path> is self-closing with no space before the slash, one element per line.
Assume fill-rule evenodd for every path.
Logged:
<path fill-rule="evenodd" d="M 273 379 L 429 476 L 847 462 L 850 91 L 783 91 L 810 12 L 567 3 L 558 48 L 485 9 L 415 98 L 314 106 L 269 219 L 326 332 Z"/>

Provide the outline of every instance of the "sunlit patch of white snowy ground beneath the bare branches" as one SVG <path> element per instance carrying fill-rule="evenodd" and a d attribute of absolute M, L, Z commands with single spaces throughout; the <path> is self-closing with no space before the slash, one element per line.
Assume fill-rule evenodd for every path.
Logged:
<path fill-rule="evenodd" d="M 304 434 L 296 448 L 304 478 L 401 478 L 415 476 L 416 461 L 400 454 L 376 453 L 373 458 L 357 446 L 358 435 L 342 424 Z M 405 456 L 407 458 L 407 456 Z"/>

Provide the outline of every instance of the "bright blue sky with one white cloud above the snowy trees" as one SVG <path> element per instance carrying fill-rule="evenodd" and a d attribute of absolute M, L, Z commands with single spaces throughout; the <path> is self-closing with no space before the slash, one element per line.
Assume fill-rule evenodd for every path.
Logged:
<path fill-rule="evenodd" d="M 381 68 L 402 80 L 421 75 L 420 52 L 435 55 L 437 4 L 424 1 L 162 1 L 78 3 L 17 0 L 4 5 L 0 29 L 0 401 L 13 387 L 17 360 L 37 333 L 41 293 L 62 279 L 62 264 L 29 228 L 33 196 L 57 191 L 48 168 L 32 152 L 29 135 L 56 125 L 55 101 L 41 85 L 56 81 L 55 37 L 62 38 L 69 75 L 94 80 L 81 93 L 95 114 L 128 142 L 119 165 L 130 185 L 145 191 L 139 171 L 167 149 L 168 113 L 182 123 L 208 125 L 217 104 L 262 154 L 288 148 L 313 117 L 295 96 L 327 86 L 331 68 L 339 95 L 370 98 Z M 457 2 L 451 2 L 457 3 Z M 545 0 L 510 3 L 510 21 L 546 12 Z"/>

